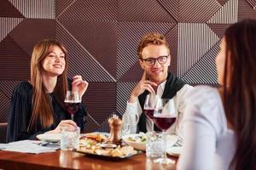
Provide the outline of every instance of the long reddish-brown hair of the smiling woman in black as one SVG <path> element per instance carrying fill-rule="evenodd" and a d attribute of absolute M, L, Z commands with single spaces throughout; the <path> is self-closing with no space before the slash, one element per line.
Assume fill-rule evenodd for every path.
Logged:
<path fill-rule="evenodd" d="M 67 85 L 67 49 L 54 40 L 45 39 L 36 43 L 32 51 L 31 59 L 31 84 L 32 84 L 32 116 L 29 122 L 29 130 L 37 130 L 37 123 L 40 121 L 43 128 L 49 127 L 54 123 L 51 104 L 46 94 L 42 72 L 42 62 L 49 54 L 49 48 L 57 46 L 65 54 L 66 65 L 63 73 L 57 77 L 57 83 L 54 89 L 55 99 L 62 105 L 65 94 L 68 89 Z"/>

